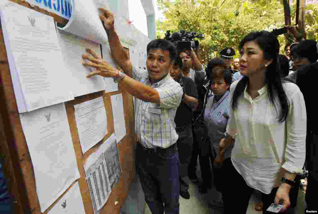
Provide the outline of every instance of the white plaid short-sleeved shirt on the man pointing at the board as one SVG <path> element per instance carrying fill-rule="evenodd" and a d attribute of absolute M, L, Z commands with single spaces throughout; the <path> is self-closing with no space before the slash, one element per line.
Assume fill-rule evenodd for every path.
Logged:
<path fill-rule="evenodd" d="M 170 74 L 151 84 L 148 72 L 135 66 L 132 78 L 155 88 L 160 97 L 160 104 L 135 99 L 135 133 L 139 142 L 146 148 L 168 148 L 178 139 L 174 118 L 183 95 L 182 87 Z"/>

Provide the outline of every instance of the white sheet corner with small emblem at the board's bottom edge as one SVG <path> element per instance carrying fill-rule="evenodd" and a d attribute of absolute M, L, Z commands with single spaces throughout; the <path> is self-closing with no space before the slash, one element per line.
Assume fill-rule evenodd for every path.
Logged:
<path fill-rule="evenodd" d="M 85 214 L 83 199 L 76 182 L 52 207 L 48 214 Z"/>

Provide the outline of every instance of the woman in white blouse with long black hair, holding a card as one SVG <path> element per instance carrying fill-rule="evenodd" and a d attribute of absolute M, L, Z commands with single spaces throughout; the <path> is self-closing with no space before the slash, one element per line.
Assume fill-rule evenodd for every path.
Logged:
<path fill-rule="evenodd" d="M 304 98 L 297 85 L 280 79 L 280 46 L 272 33 L 252 32 L 239 47 L 244 77 L 230 87 L 231 117 L 215 159 L 222 162 L 234 143 L 231 161 L 224 162 L 224 211 L 246 213 L 254 189 L 262 192 L 263 213 L 272 213 L 266 211 L 272 203 L 285 211 L 305 161 Z"/>

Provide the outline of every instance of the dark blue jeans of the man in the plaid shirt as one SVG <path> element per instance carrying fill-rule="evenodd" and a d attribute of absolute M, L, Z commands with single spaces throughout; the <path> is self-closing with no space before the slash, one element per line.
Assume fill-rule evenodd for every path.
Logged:
<path fill-rule="evenodd" d="M 177 148 L 146 149 L 137 143 L 135 165 L 151 213 L 179 214 Z"/>

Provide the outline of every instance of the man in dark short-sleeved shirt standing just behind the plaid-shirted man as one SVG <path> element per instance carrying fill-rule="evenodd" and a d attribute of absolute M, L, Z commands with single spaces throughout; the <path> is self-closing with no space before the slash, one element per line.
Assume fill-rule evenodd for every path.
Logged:
<path fill-rule="evenodd" d="M 177 59 L 170 69 L 170 76 L 183 88 L 183 98 L 176 111 L 176 132 L 179 136 L 177 147 L 179 152 L 179 181 L 180 195 L 185 199 L 190 198 L 189 184 L 183 177 L 188 175 L 188 164 L 190 162 L 193 145 L 192 135 L 192 111 L 197 109 L 198 94 L 194 81 L 189 77 L 181 75 L 181 59 Z"/>

